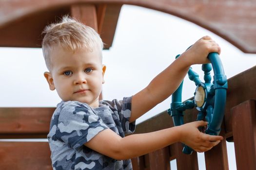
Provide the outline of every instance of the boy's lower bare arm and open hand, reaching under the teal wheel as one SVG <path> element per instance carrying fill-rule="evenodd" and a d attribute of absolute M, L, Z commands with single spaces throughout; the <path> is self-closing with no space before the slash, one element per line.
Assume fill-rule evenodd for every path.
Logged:
<path fill-rule="evenodd" d="M 205 152 L 223 139 L 222 136 L 210 136 L 199 132 L 197 127 L 205 125 L 207 122 L 195 121 L 173 128 L 123 138 L 112 130 L 105 129 L 85 143 L 85 146 L 117 160 L 150 153 L 177 141 L 185 143 L 197 152 Z"/>

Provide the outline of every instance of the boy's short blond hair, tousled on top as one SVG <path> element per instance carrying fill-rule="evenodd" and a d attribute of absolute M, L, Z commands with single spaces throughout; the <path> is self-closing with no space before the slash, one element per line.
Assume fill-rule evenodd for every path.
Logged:
<path fill-rule="evenodd" d="M 42 52 L 49 71 L 51 70 L 50 53 L 54 47 L 74 52 L 84 47 L 88 51 L 93 51 L 94 48 L 100 48 L 99 51 L 103 49 L 103 42 L 94 29 L 69 16 L 62 17 L 59 23 L 46 26 L 42 34 L 45 34 L 42 40 Z"/>

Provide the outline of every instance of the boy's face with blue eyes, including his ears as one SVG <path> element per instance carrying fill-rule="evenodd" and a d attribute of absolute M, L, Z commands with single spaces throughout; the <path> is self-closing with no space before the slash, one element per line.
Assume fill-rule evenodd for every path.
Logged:
<path fill-rule="evenodd" d="M 82 48 L 73 51 L 55 48 L 51 53 L 52 70 L 44 76 L 51 90 L 56 89 L 63 101 L 79 101 L 98 107 L 106 67 L 101 64 L 101 51 Z"/>

